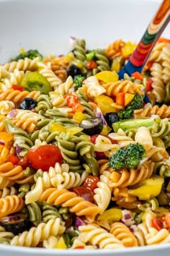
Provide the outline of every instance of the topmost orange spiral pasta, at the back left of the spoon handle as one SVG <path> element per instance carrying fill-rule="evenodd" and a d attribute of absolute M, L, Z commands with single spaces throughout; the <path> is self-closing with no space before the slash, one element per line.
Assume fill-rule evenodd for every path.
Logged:
<path fill-rule="evenodd" d="M 107 48 L 105 48 L 105 54 L 108 59 L 112 60 L 115 57 L 119 57 L 122 55 L 122 48 L 125 46 L 125 42 L 120 40 L 115 40 L 113 43 L 109 44 Z"/>

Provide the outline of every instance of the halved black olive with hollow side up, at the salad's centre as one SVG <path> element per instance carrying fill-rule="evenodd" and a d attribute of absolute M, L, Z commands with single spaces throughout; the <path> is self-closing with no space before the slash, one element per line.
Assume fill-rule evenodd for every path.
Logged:
<path fill-rule="evenodd" d="M 86 135 L 97 135 L 102 132 L 103 121 L 99 117 L 89 118 L 81 121 L 79 127 L 84 128 L 82 132 L 86 133 Z"/>

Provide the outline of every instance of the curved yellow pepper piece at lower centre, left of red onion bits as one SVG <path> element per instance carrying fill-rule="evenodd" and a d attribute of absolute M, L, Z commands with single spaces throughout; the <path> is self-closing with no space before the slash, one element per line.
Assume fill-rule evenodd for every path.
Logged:
<path fill-rule="evenodd" d="M 112 208 L 105 210 L 104 213 L 98 217 L 97 223 L 99 223 L 99 225 L 103 226 L 105 229 L 109 229 L 109 223 L 120 221 L 120 218 L 122 218 L 122 210 Z"/>

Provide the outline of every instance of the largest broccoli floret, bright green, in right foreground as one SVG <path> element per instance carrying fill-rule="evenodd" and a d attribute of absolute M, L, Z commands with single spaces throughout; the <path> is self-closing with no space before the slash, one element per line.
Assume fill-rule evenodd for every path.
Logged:
<path fill-rule="evenodd" d="M 128 145 L 126 148 L 120 148 L 109 158 L 109 167 L 115 168 L 134 168 L 143 158 L 146 150 L 139 143 Z"/>

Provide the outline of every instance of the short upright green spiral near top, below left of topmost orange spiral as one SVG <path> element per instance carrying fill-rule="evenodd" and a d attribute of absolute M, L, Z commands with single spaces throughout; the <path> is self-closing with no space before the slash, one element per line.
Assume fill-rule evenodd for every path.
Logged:
<path fill-rule="evenodd" d="M 97 58 L 97 69 L 100 71 L 110 70 L 109 68 L 109 60 L 105 54 L 105 51 L 102 49 L 97 49 L 95 53 L 95 57 Z"/>

